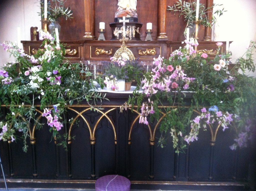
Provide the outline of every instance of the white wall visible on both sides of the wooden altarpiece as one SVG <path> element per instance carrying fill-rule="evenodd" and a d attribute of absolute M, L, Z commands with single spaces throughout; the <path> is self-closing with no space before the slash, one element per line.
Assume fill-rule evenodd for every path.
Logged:
<path fill-rule="evenodd" d="M 78 0 L 77 0 L 78 1 Z M 232 58 L 238 58 L 246 51 L 250 40 L 256 41 L 256 0 L 214 0 L 223 4 L 227 12 L 217 17 L 214 41 L 233 41 L 230 44 Z M 41 28 L 39 0 L 4 0 L 0 3 L 0 43 L 17 41 L 17 27 L 21 27 L 21 39 L 30 40 L 30 27 Z M 6 51 L 0 47 L 0 66 L 8 61 Z M 250 73 L 256 76 L 256 72 Z"/>

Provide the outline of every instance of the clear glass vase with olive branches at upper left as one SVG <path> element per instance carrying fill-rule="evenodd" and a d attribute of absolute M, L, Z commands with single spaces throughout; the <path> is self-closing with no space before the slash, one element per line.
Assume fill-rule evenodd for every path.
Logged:
<path fill-rule="evenodd" d="M 49 30 L 52 35 L 55 34 L 55 28 L 58 28 L 58 31 L 60 33 L 60 24 L 59 18 L 64 17 L 66 20 L 71 17 L 73 14 L 72 10 L 70 8 L 66 8 L 64 6 L 66 1 L 64 0 L 48 0 L 47 1 L 47 20 L 49 20 L 51 23 L 49 24 Z M 44 0 L 41 0 L 41 17 L 42 20 L 44 18 Z"/>

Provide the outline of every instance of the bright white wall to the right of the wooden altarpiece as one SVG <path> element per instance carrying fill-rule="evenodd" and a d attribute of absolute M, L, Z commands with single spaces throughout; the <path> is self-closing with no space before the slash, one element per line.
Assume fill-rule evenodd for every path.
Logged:
<path fill-rule="evenodd" d="M 243 56 L 246 52 L 250 40 L 256 41 L 256 1 L 214 0 L 214 3 L 223 4 L 222 7 L 227 10 L 220 17 L 216 16 L 217 23 L 213 31 L 214 41 L 233 41 L 229 50 L 232 52 L 234 62 L 236 58 Z M 256 59 L 255 55 L 254 59 Z M 256 72 L 248 74 L 256 76 Z"/>

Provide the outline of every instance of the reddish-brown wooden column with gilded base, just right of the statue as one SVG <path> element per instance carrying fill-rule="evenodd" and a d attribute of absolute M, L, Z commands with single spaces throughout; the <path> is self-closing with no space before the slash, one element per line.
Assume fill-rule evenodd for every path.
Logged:
<path fill-rule="evenodd" d="M 157 40 L 168 40 L 166 36 L 166 0 L 158 0 L 158 37 Z"/>

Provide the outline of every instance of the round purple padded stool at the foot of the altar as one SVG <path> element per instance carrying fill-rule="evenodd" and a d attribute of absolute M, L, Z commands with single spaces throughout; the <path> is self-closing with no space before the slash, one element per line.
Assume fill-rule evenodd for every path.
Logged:
<path fill-rule="evenodd" d="M 95 191 L 129 191 L 131 182 L 119 175 L 106 175 L 97 179 Z"/>

